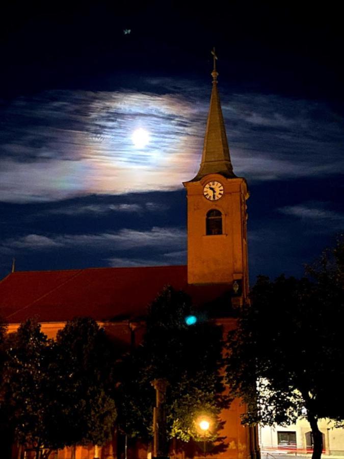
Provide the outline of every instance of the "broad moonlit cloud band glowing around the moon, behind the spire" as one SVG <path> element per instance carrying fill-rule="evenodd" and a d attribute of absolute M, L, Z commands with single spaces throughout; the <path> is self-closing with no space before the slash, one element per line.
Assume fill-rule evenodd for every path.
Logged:
<path fill-rule="evenodd" d="M 45 91 L 13 100 L 0 127 L 0 200 L 180 188 L 199 167 L 210 86 L 146 83 L 150 92 Z M 330 107 L 220 91 L 237 175 L 271 181 L 344 170 L 344 122 Z M 137 127 L 150 132 L 146 148 L 131 141 Z"/>

